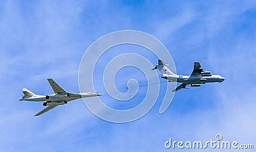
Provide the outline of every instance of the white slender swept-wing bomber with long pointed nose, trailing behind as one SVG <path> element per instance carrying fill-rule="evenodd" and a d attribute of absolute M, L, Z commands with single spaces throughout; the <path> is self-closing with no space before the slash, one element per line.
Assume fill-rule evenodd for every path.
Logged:
<path fill-rule="evenodd" d="M 26 88 L 22 89 L 22 92 L 24 95 L 22 95 L 22 98 L 19 100 L 27 100 L 27 101 L 45 101 L 43 103 L 43 106 L 47 106 L 44 110 L 40 111 L 39 113 L 35 114 L 35 116 L 39 116 L 40 114 L 43 114 L 52 108 L 67 104 L 67 102 L 71 100 L 76 100 L 80 98 L 86 98 L 86 97 L 95 97 L 102 95 L 100 93 L 70 93 L 66 92 L 61 88 L 53 79 L 47 79 L 52 87 L 52 90 L 54 91 L 54 94 L 52 95 L 36 95 L 35 93 L 29 91 Z"/>

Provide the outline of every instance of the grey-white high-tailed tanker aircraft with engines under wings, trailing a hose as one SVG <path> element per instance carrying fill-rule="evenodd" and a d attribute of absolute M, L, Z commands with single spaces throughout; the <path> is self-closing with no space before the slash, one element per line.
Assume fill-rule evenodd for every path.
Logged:
<path fill-rule="evenodd" d="M 181 76 L 172 73 L 170 69 L 166 66 L 168 64 L 164 64 L 163 60 L 158 60 L 158 64 L 152 70 L 159 69 L 162 73 L 162 78 L 168 79 L 169 82 L 179 82 L 182 83 L 177 88 L 172 90 L 172 92 L 176 92 L 181 88 L 188 88 L 187 85 L 191 86 L 201 86 L 205 83 L 213 83 L 213 82 L 222 82 L 225 80 L 222 76 L 212 75 L 211 71 L 205 71 L 204 68 L 201 67 L 199 62 L 194 63 L 194 69 L 190 76 Z"/>

